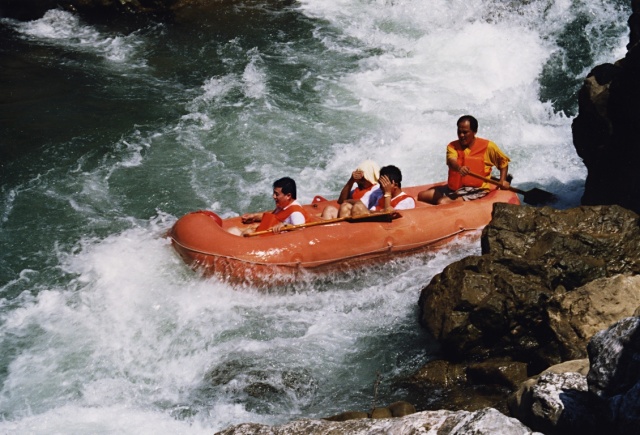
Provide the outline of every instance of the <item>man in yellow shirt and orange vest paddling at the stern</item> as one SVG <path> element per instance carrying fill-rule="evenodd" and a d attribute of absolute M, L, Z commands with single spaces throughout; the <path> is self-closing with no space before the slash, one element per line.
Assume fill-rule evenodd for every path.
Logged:
<path fill-rule="evenodd" d="M 423 190 L 418 193 L 418 201 L 435 205 L 482 198 L 489 193 L 489 183 L 469 173 L 489 178 L 494 166 L 500 171 L 498 189 L 509 188 L 509 157 L 492 141 L 476 136 L 478 120 L 473 116 L 460 117 L 457 125 L 458 140 L 447 145 L 447 184 Z"/>

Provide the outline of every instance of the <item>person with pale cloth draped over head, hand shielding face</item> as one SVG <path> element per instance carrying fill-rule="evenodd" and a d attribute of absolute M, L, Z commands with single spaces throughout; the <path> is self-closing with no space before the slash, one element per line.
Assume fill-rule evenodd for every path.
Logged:
<path fill-rule="evenodd" d="M 371 195 L 380 189 L 378 178 L 380 177 L 380 167 L 372 160 L 365 160 L 360 163 L 351 177 L 346 182 L 340 196 L 338 204 L 340 209 L 328 205 L 322 211 L 322 219 L 335 219 L 336 217 L 352 216 L 354 205 L 362 204 L 366 209 L 371 207 Z M 356 185 L 353 187 L 353 185 Z"/>

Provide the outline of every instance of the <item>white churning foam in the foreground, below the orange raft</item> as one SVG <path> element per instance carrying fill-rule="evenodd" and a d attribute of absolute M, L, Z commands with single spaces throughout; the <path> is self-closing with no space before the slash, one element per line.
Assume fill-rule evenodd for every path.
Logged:
<path fill-rule="evenodd" d="M 311 382 L 296 387 L 298 396 L 286 405 L 287 412 L 301 412 L 299 406 L 311 403 L 315 394 L 328 394 L 323 393 L 327 388 L 346 397 L 348 385 L 325 384 L 326 373 L 351 370 L 354 362 L 347 367 L 345 360 L 368 352 L 367 340 L 359 340 L 372 328 L 393 330 L 412 321 L 406 316 L 415 305 L 415 286 L 433 273 L 413 268 L 403 275 L 407 264 L 398 262 L 384 271 L 363 271 L 344 284 L 324 282 L 322 291 L 313 285 L 293 294 L 234 290 L 215 279 L 195 279 L 160 237 L 160 228 L 154 229 L 167 223 L 102 241 L 87 239 L 81 249 L 60 254 L 65 273 L 75 278 L 7 313 L 0 332 L 23 349 L 13 358 L 0 394 L 0 407 L 13 416 L 9 420 L 20 421 L 5 427 L 38 433 L 77 414 L 78 431 L 87 424 L 110 430 L 151 412 L 154 422 L 143 427 L 163 433 L 185 427 L 180 422 L 167 426 L 164 414 L 186 403 L 193 412 L 190 423 L 221 429 L 233 417 L 210 415 L 191 396 L 206 387 L 211 369 L 225 367 L 233 380 L 206 387 L 215 391 L 215 409 L 234 409 L 236 417 L 253 421 L 280 421 L 284 409 L 263 415 L 234 403 L 256 382 L 291 388 L 283 384 L 283 373 Z M 381 280 L 390 270 L 400 272 L 394 272 L 398 279 Z M 234 361 L 248 369 L 234 373 Z M 366 360 L 358 364 L 373 370 L 371 363 L 373 368 Z M 28 414 L 23 397 L 30 401 Z M 111 422 L 120 407 L 129 411 L 122 421 Z"/>

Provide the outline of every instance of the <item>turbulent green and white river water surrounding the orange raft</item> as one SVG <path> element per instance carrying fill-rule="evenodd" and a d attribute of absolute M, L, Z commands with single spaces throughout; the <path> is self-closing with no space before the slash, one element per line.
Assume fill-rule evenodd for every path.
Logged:
<path fill-rule="evenodd" d="M 0 20 L 0 432 L 207 433 L 368 410 L 437 354 L 420 289 L 476 238 L 268 293 L 189 270 L 182 214 L 337 196 L 371 158 L 444 179 L 471 113 L 513 185 L 579 203 L 576 92 L 627 1 L 236 3 L 177 22 Z M 416 399 L 416 398 L 412 398 Z M 417 400 L 417 399 L 416 399 Z"/>

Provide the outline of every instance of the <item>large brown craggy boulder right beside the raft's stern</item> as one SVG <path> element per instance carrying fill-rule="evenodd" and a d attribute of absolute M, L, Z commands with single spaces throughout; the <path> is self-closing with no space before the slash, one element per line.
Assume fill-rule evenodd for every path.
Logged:
<path fill-rule="evenodd" d="M 449 358 L 509 357 L 537 373 L 584 357 L 590 337 L 570 347 L 560 337 L 560 329 L 571 327 L 563 324 L 571 319 L 563 306 L 572 304 L 558 298 L 598 278 L 640 274 L 638 215 L 617 206 L 559 211 L 498 204 L 482 247 L 482 256 L 449 265 L 420 296 L 421 323 Z M 629 303 L 614 317 L 633 310 Z"/>

